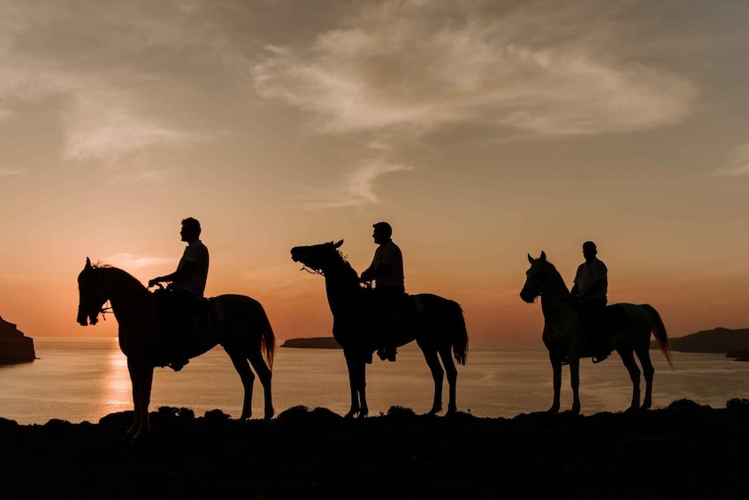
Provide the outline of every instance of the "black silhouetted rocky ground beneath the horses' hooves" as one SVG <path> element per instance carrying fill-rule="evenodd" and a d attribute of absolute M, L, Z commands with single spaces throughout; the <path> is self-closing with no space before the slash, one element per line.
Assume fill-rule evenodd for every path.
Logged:
<path fill-rule="evenodd" d="M 0 419 L 3 498 L 747 498 L 749 402 L 514 419 L 297 407 L 270 421 L 153 413 L 148 439 Z"/>

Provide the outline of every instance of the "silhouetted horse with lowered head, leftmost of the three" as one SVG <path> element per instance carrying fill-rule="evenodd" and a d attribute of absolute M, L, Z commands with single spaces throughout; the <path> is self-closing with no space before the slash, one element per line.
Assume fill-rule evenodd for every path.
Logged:
<path fill-rule="evenodd" d="M 119 347 L 127 357 L 127 369 L 133 384 L 134 419 L 126 437 L 137 438 L 149 431 L 149 403 L 153 370 L 169 364 L 174 358 L 174 339 L 164 335 L 157 320 L 156 295 L 133 276 L 109 265 L 86 266 L 78 276 L 80 302 L 78 322 L 96 325 L 103 304 L 111 310 L 119 325 Z M 255 373 L 263 384 L 265 419 L 273 417 L 271 368 L 276 339 L 263 306 L 255 299 L 240 295 L 222 295 L 210 299 L 215 306 L 215 325 L 184 332 L 190 358 L 195 358 L 220 343 L 244 386 L 244 403 L 240 419 L 252 416 L 252 386 Z M 180 351 L 184 351 L 181 349 Z"/>

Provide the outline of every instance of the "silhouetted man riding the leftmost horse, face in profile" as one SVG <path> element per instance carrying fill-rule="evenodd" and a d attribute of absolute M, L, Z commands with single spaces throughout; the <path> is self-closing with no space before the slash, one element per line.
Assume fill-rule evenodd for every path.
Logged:
<path fill-rule="evenodd" d="M 183 242 L 187 242 L 180 264 L 174 273 L 159 276 L 149 281 L 149 288 L 157 283 L 168 281 L 166 288 L 168 293 L 167 318 L 170 320 L 171 340 L 176 340 L 180 330 L 187 331 L 190 327 L 190 318 L 198 311 L 203 300 L 205 282 L 208 279 L 208 248 L 200 241 L 200 222 L 188 217 L 182 219 L 180 236 Z M 170 366 L 175 372 L 179 372 L 184 365 L 189 363 L 186 349 L 182 347 L 183 342 L 174 342 L 174 347 L 179 352 L 178 356 Z"/>

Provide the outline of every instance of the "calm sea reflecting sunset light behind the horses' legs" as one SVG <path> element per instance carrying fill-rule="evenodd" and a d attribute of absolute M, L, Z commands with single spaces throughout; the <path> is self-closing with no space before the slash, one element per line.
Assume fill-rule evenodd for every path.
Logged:
<path fill-rule="evenodd" d="M 132 410 L 126 358 L 116 339 L 35 338 L 37 360 L 0 366 L 0 417 L 20 424 L 44 424 L 50 419 L 96 422 L 112 412 Z M 723 407 L 732 397 L 749 398 L 749 363 L 714 354 L 674 352 L 671 371 L 659 351 L 651 351 L 655 366 L 653 406 L 676 399 Z M 512 418 L 544 411 L 551 404 L 551 367 L 546 350 L 499 350 L 471 346 L 468 365 L 458 367 L 458 408 L 478 417 Z M 569 371 L 562 382 L 562 409 L 571 404 Z M 367 366 L 370 414 L 393 405 L 417 413 L 432 404 L 432 377 L 415 344 L 399 350 L 398 361 Z M 644 382 L 643 382 L 644 386 Z M 447 381 L 443 392 L 447 408 Z M 276 414 L 298 404 L 348 411 L 348 375 L 340 350 L 279 349 L 273 369 Z M 631 383 L 616 355 L 600 365 L 581 362 L 580 396 L 583 413 L 620 412 L 631 398 Z M 219 409 L 237 418 L 242 387 L 229 358 L 220 347 L 193 359 L 180 373 L 157 368 L 151 410 L 159 406 L 187 407 L 197 416 Z M 263 416 L 262 386 L 256 381 L 253 418 Z"/>

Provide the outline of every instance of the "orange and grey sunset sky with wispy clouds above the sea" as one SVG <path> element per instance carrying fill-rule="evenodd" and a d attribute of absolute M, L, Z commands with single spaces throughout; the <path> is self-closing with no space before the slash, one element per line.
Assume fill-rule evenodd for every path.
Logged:
<path fill-rule="evenodd" d="M 541 250 L 571 285 L 598 243 L 609 301 L 669 335 L 748 327 L 749 4 L 0 0 L 0 315 L 79 327 L 87 257 L 171 273 L 203 224 L 206 293 L 276 335 L 330 335 L 295 245 L 387 220 L 406 287 L 473 342 L 539 346 L 518 297 Z"/>

